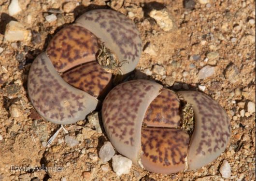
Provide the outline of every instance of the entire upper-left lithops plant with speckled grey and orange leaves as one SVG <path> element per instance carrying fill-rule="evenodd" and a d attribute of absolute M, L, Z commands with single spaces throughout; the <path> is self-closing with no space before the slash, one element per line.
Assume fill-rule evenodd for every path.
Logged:
<path fill-rule="evenodd" d="M 134 23 L 113 10 L 93 10 L 61 29 L 32 63 L 28 95 L 46 120 L 71 124 L 138 64 L 142 41 Z"/>

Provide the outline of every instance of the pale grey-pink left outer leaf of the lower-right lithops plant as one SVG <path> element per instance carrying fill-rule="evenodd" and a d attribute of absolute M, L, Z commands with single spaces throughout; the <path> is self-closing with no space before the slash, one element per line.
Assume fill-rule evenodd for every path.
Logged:
<path fill-rule="evenodd" d="M 149 80 L 132 80 L 116 86 L 103 102 L 106 133 L 116 150 L 133 163 L 138 163 L 143 117 L 161 88 Z"/>

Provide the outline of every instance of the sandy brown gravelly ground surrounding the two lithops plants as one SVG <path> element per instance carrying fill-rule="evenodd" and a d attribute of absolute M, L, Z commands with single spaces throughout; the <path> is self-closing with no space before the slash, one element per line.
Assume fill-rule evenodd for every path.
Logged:
<path fill-rule="evenodd" d="M 133 78 L 201 90 L 224 107 L 232 135 L 215 161 L 169 175 L 132 166 L 118 176 L 113 168 L 119 157 L 103 163 L 99 156 L 108 139 L 97 115 L 66 125 L 68 134 L 61 130 L 46 147 L 59 126 L 29 102 L 29 67 L 59 29 L 100 8 L 124 13 L 141 32 L 143 52 Z M 255 0 L 0 0 L 0 180 L 254 181 L 255 14 Z M 14 34 L 6 28 L 12 20 L 18 22 Z M 63 170 L 33 170 L 43 164 Z"/>

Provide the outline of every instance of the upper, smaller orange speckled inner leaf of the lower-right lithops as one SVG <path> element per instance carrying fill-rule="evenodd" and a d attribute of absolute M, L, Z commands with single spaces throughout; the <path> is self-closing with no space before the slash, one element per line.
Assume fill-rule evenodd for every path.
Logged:
<path fill-rule="evenodd" d="M 168 89 L 150 103 L 143 122 L 150 127 L 175 128 L 181 126 L 180 101 L 177 95 Z"/>

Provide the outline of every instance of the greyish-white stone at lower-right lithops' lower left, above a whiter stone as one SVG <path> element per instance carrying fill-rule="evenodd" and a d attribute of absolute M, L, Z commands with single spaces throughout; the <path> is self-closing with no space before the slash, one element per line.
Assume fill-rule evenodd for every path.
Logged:
<path fill-rule="evenodd" d="M 104 142 L 103 146 L 100 148 L 100 159 L 102 162 L 108 162 L 114 156 L 115 151 L 114 147 L 112 146 L 111 142 Z"/>

